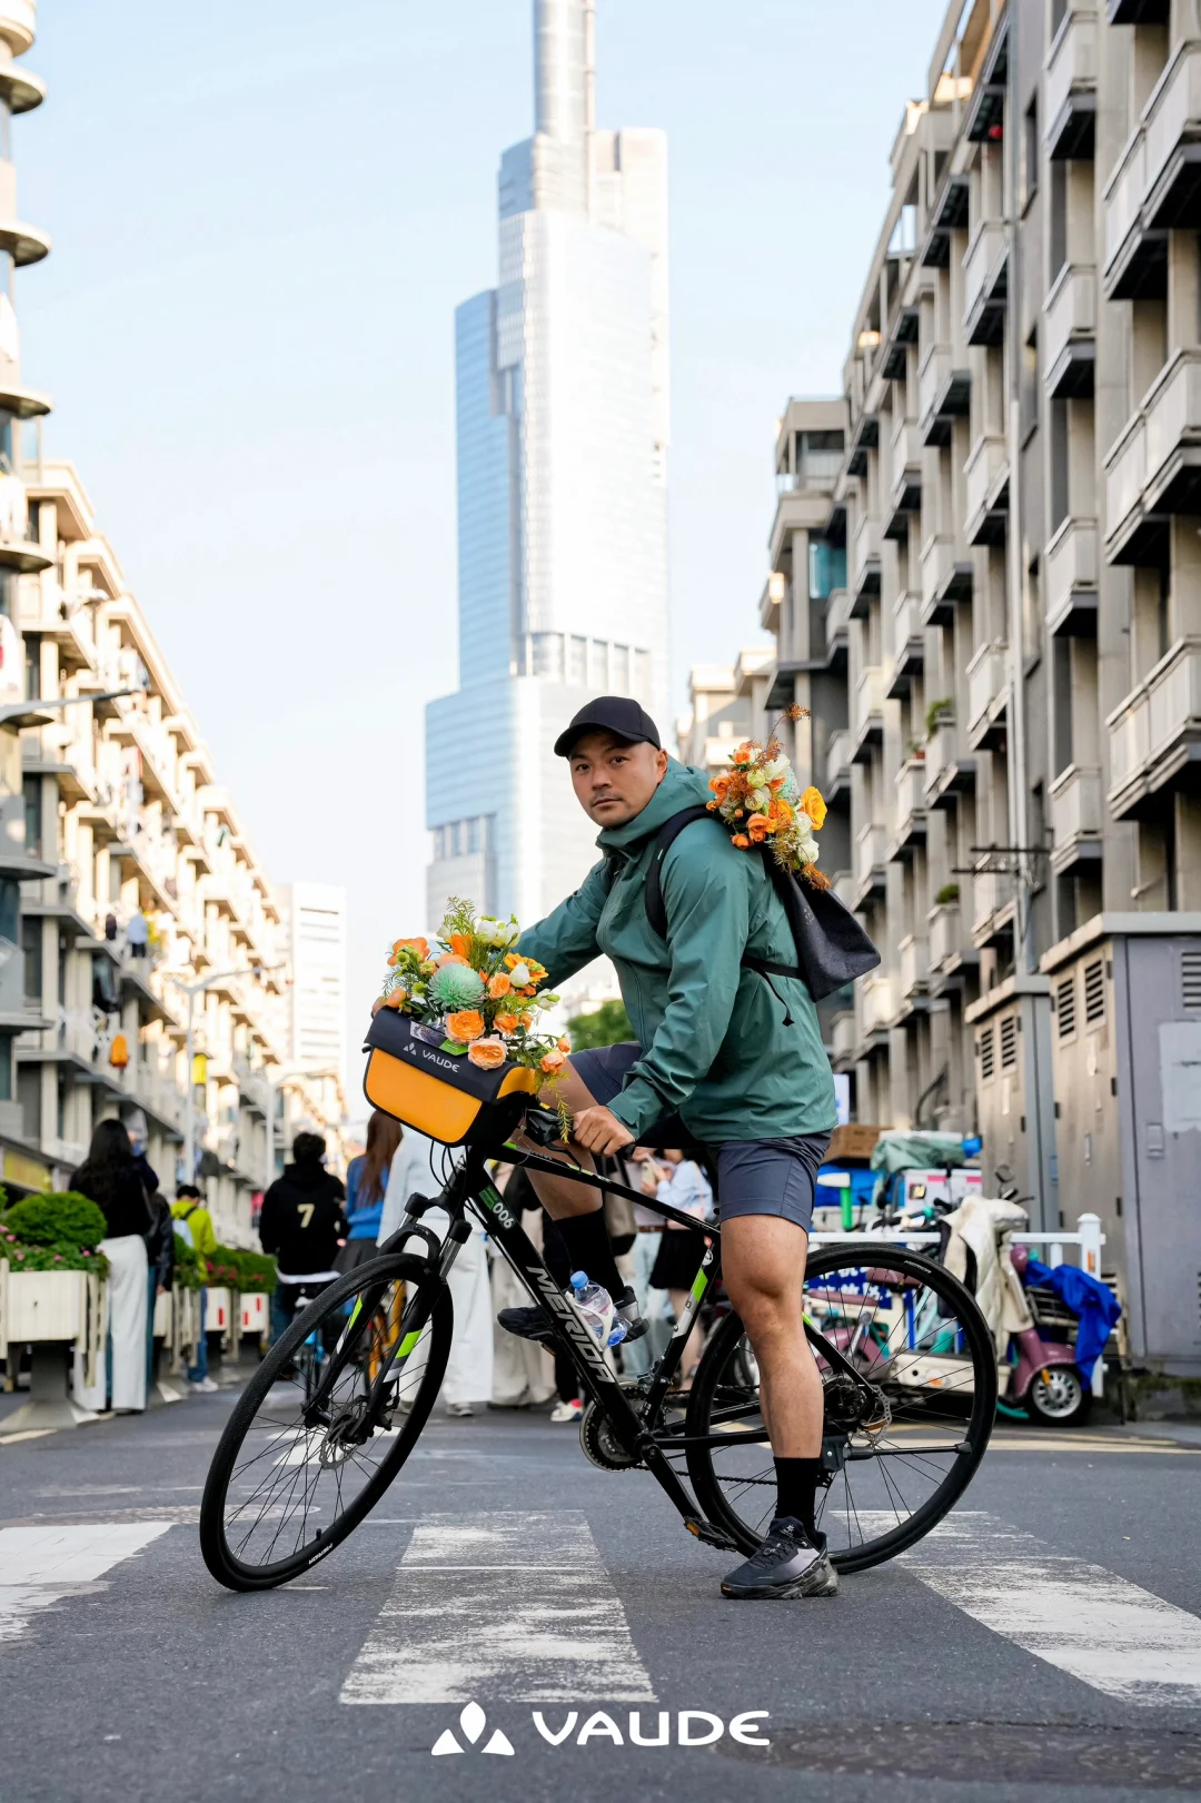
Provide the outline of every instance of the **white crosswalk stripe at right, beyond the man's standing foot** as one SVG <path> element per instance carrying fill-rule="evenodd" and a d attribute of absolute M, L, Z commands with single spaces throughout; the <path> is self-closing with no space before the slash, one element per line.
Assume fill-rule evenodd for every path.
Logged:
<path fill-rule="evenodd" d="M 1122 1702 L 1201 1704 L 1201 1621 L 990 1515 L 959 1511 L 902 1563 L 1028 1653 Z"/>

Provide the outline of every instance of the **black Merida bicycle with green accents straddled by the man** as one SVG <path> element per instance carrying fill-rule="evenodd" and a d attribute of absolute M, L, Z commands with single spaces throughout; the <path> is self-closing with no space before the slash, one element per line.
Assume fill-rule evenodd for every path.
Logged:
<path fill-rule="evenodd" d="M 527 1107 L 528 1096 L 509 1102 L 467 1143 L 444 1192 L 415 1197 L 379 1257 L 330 1284 L 238 1397 L 200 1506 L 204 1561 L 227 1588 L 272 1588 L 301 1576 L 395 1482 L 442 1387 L 453 1332 L 445 1278 L 472 1231 L 469 1215 L 575 1367 L 588 1399 L 581 1444 L 593 1466 L 647 1469 L 709 1545 L 750 1552 L 763 1540 L 775 1477 L 757 1368 L 736 1314 L 721 1316 L 709 1336 L 687 1397 L 673 1394 L 696 1311 L 720 1282 L 720 1222 L 701 1228 L 705 1255 L 664 1358 L 646 1377 L 619 1377 L 489 1176 L 489 1159 L 501 1156 L 528 1170 L 564 1170 L 548 1156 L 563 1132 L 557 1114 Z M 523 1116 L 527 1139 L 545 1150 L 510 1143 Z M 611 1177 L 570 1170 L 665 1221 L 698 1224 Z M 422 1219 L 431 1208 L 449 1217 L 442 1235 Z M 878 1240 L 811 1249 L 804 1322 L 826 1397 L 819 1525 L 835 1567 L 864 1570 L 914 1545 L 963 1495 L 995 1415 L 995 1349 L 974 1298 L 949 1271 Z M 294 1358 L 314 1336 L 332 1350 L 305 1394 Z"/>

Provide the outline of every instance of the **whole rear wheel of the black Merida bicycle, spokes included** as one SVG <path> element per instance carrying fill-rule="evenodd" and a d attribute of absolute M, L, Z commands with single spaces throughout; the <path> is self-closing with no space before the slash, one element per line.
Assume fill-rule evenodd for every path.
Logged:
<path fill-rule="evenodd" d="M 864 1570 L 921 1540 L 967 1489 L 995 1414 L 994 1341 L 968 1291 L 903 1246 L 813 1251 L 804 1298 L 853 1368 L 815 1349 L 826 1392 L 817 1522 L 839 1570 Z M 698 1504 L 754 1551 L 775 1513 L 775 1469 L 736 1314 L 705 1349 L 685 1439 Z"/>

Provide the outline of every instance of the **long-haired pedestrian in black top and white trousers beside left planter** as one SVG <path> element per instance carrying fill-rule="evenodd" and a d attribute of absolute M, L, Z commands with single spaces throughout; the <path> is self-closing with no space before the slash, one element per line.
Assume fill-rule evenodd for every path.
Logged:
<path fill-rule="evenodd" d="M 70 1188 L 105 1215 L 99 1249 L 108 1258 L 108 1399 L 117 1414 L 141 1414 L 146 1406 L 146 1235 L 151 1230 L 150 1195 L 159 1179 L 144 1159 L 135 1161 L 130 1136 L 119 1120 L 97 1121 L 83 1165 L 70 1174 Z M 105 1387 L 97 1383 L 97 1390 Z M 94 1401 L 88 1406 L 96 1406 Z"/>

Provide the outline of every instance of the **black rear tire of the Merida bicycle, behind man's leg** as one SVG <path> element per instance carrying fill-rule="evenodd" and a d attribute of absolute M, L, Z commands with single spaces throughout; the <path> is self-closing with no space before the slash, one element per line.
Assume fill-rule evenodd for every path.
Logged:
<path fill-rule="evenodd" d="M 943 1520 L 970 1484 L 981 1459 L 985 1457 L 997 1405 L 997 1363 L 988 1323 L 985 1322 L 976 1298 L 963 1287 L 963 1284 L 958 1282 L 958 1278 L 950 1275 L 950 1271 L 945 1269 L 945 1266 L 936 1264 L 932 1258 L 927 1258 L 918 1251 L 894 1244 L 882 1244 L 880 1248 L 822 1246 L 810 1255 L 806 1268 L 806 1289 L 815 1278 L 831 1277 L 833 1273 L 848 1271 L 853 1266 L 889 1271 L 914 1282 L 921 1280 L 936 1293 L 936 1296 L 943 1298 L 949 1307 L 954 1307 L 970 1350 L 972 1405 L 967 1432 L 963 1435 L 963 1451 L 956 1451 L 954 1462 L 949 1466 L 943 1482 L 921 1504 L 921 1507 L 909 1515 L 907 1520 L 898 1520 L 894 1527 L 878 1533 L 875 1538 L 864 1538 L 857 1545 L 840 1549 L 831 1547 L 831 1561 L 842 1572 L 867 1570 L 873 1565 L 896 1558 L 898 1552 L 905 1552 L 909 1547 L 916 1545 L 918 1540 L 929 1534 L 929 1531 Z M 727 1496 L 721 1475 L 716 1469 L 716 1457 L 720 1453 L 716 1455 L 714 1446 L 705 1442 L 705 1437 L 714 1432 L 714 1399 L 721 1390 L 727 1367 L 732 1367 L 743 1354 L 743 1323 L 738 1314 L 729 1314 L 720 1322 L 709 1345 L 705 1347 L 700 1368 L 692 1381 L 692 1394 L 689 1397 L 689 1410 L 685 1417 L 685 1439 L 698 1441 L 698 1444 L 687 1446 L 687 1466 L 696 1500 L 707 1520 L 723 1527 L 739 1551 L 754 1552 L 763 1540 L 765 1525 L 759 1518 L 748 1520 L 747 1515 L 739 1515 L 738 1507 L 730 1502 L 730 1496 Z M 729 1397 L 729 1383 L 723 1394 Z M 967 1399 L 967 1394 L 965 1387 L 961 1392 L 963 1401 Z M 943 1397 L 940 1396 L 938 1401 L 941 1403 Z M 750 1392 L 747 1392 L 747 1403 L 750 1403 Z M 738 1414 L 738 1408 L 734 1406 L 727 1410 L 727 1414 Z M 954 1448 L 950 1444 L 947 1448 L 940 1448 L 940 1455 L 950 1453 L 952 1450 Z M 889 1448 L 889 1453 L 891 1451 L 893 1450 Z M 765 1453 L 770 1459 L 770 1448 L 765 1448 Z M 912 1460 L 912 1457 L 921 1455 L 925 1455 L 925 1450 L 920 1450 L 916 1455 L 911 1453 L 909 1457 Z M 871 1453 L 857 1455 L 858 1462 L 867 1457 L 871 1457 Z M 885 1457 L 885 1453 L 882 1451 L 878 1457 Z M 905 1457 L 903 1448 L 898 1451 L 898 1457 Z M 763 1477 L 748 1477 L 745 1480 L 741 1477 L 736 1480 L 727 1477 L 725 1482 L 730 1484 L 730 1487 L 739 1484 L 743 1489 L 752 1484 L 772 1486 L 768 1491 L 768 1507 L 775 1495 L 774 1477 L 766 1473 Z M 844 1482 L 849 1495 L 849 1478 L 844 1478 Z M 885 1486 L 887 1482 L 889 1480 L 885 1477 Z M 819 1504 L 821 1502 L 822 1491 L 819 1491 Z M 878 1515 L 880 1511 L 871 1509 L 864 1513 Z M 848 1511 L 848 1524 L 849 1515 L 851 1511 Z M 860 1524 L 860 1511 L 855 1511 L 857 1525 Z"/>

